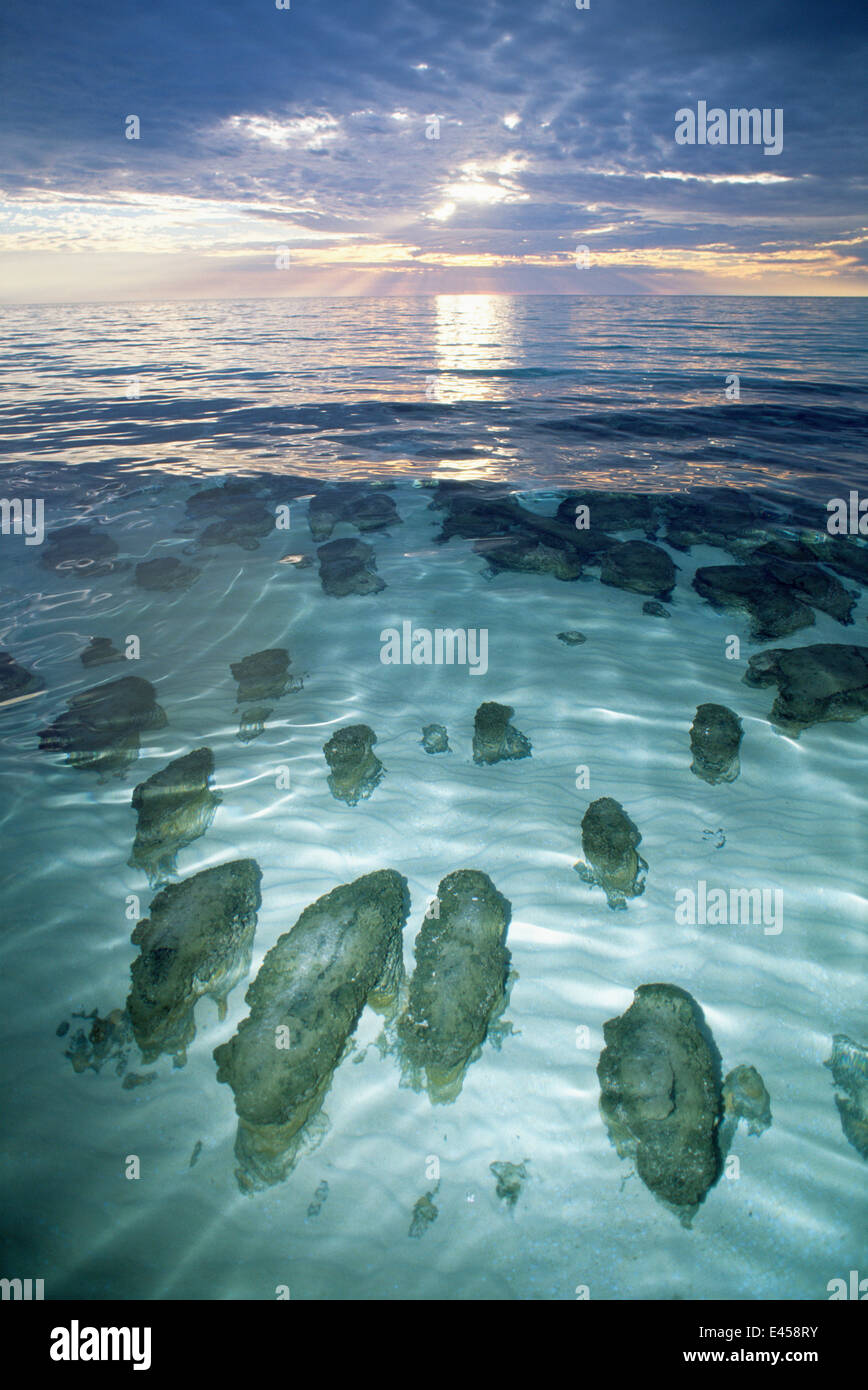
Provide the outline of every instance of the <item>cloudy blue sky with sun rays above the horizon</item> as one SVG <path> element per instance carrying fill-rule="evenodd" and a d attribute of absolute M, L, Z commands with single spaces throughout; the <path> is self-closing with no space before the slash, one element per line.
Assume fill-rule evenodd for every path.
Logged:
<path fill-rule="evenodd" d="M 864 0 L 7 0 L 0 24 L 6 302 L 868 291 Z M 772 124 L 680 143 L 698 103 L 765 110 L 780 153 Z"/>

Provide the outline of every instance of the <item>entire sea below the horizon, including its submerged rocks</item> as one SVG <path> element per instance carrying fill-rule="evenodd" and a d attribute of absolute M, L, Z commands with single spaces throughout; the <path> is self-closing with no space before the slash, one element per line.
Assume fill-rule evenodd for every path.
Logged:
<path fill-rule="evenodd" d="M 0 341 L 1 1272 L 868 1272 L 862 302 L 25 306 Z M 142 848 L 134 790 L 198 749 Z M 154 912 L 248 860 L 231 912 Z"/>

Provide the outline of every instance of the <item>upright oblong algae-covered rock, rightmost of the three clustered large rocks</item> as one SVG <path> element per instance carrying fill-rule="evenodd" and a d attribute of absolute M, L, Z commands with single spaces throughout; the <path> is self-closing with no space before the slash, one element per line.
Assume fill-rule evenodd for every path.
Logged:
<path fill-rule="evenodd" d="M 512 908 L 477 869 L 448 874 L 437 915 L 416 937 L 416 969 L 398 1040 L 410 1084 L 434 1104 L 453 1101 L 490 1026 L 506 1006 Z"/>

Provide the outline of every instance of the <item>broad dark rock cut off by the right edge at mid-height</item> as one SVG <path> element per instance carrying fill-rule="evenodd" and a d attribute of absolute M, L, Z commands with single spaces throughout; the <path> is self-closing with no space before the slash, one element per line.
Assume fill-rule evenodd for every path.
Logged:
<path fill-rule="evenodd" d="M 794 738 L 811 724 L 868 714 L 868 646 L 772 648 L 750 657 L 743 680 L 778 687 L 769 721 Z"/>

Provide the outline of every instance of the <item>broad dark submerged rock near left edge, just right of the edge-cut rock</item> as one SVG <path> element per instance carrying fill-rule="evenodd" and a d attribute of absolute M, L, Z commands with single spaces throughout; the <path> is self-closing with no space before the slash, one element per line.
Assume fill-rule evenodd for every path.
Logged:
<path fill-rule="evenodd" d="M 122 773 L 139 756 L 139 734 L 164 728 L 166 713 L 150 681 L 122 676 L 74 695 L 70 708 L 40 730 L 39 748 L 65 753 L 71 767 Z"/>

